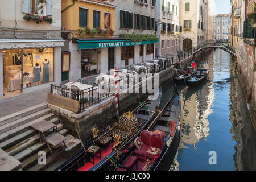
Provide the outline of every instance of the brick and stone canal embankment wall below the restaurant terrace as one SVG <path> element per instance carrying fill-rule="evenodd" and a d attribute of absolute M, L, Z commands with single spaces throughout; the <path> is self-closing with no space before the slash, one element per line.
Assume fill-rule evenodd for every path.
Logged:
<path fill-rule="evenodd" d="M 199 59 L 199 57 L 205 55 L 208 49 L 198 53 L 195 57 L 189 56 L 186 59 L 180 61 L 181 67 L 184 67 L 185 64 L 191 64 L 191 59 Z M 174 75 L 174 65 L 166 68 L 165 70 L 160 71 L 159 73 L 159 85 L 171 84 L 172 76 Z M 154 80 L 154 78 L 148 77 L 148 79 Z M 137 85 L 141 88 L 141 85 Z M 137 87 L 135 85 L 135 87 Z M 138 93 L 138 94 L 129 94 L 122 93 L 119 94 L 119 110 L 120 113 L 126 111 L 132 111 L 139 104 L 147 99 L 148 94 Z M 105 100 L 102 100 L 100 103 L 94 104 L 90 107 L 87 107 L 85 111 L 76 114 L 73 111 L 63 109 L 60 106 L 53 104 L 48 104 L 48 107 L 60 118 L 61 123 L 64 127 L 68 129 L 73 135 L 80 135 L 82 141 L 85 138 L 89 137 L 92 134 L 91 129 L 96 127 L 99 130 L 104 130 L 108 125 L 117 121 L 116 112 L 115 112 L 115 97 L 110 96 Z"/>

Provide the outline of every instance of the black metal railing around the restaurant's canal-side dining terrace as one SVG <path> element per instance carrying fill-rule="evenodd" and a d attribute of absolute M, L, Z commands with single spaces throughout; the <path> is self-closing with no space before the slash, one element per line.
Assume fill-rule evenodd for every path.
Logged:
<path fill-rule="evenodd" d="M 135 65 L 130 65 L 126 67 L 126 69 L 128 69 L 127 74 L 125 76 L 118 78 L 119 89 L 135 89 L 135 75 L 139 76 L 141 74 L 144 74 L 143 78 L 147 80 L 147 73 L 151 73 L 151 76 L 154 76 L 155 73 L 159 73 L 171 67 L 172 65 L 171 59 L 158 58 L 158 60 L 159 63 L 152 63 L 148 66 L 142 63 L 141 68 L 139 68 L 138 70 L 135 69 Z M 122 73 L 121 70 L 122 69 L 119 68 L 118 72 Z M 139 80 L 140 85 L 142 81 L 144 80 Z M 122 82 L 123 85 L 120 86 L 120 82 Z M 100 103 L 102 100 L 114 96 L 114 90 L 114 80 L 109 79 L 108 81 L 99 83 L 97 86 L 92 86 L 85 90 L 69 89 L 65 86 L 56 86 L 51 84 L 50 92 L 62 97 L 71 98 L 73 100 L 78 101 L 78 113 L 81 113 L 86 109 L 86 107 Z"/>

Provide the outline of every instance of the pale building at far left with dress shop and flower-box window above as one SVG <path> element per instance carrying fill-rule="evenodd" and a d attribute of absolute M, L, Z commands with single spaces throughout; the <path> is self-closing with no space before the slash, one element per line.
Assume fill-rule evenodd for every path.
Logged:
<path fill-rule="evenodd" d="M 0 1 L 0 101 L 60 84 L 60 2 Z"/>

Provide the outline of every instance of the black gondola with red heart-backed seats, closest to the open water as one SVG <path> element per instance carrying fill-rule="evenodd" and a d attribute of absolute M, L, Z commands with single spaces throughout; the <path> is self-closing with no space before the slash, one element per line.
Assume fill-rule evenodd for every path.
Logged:
<path fill-rule="evenodd" d="M 167 154 L 170 152 L 176 154 L 177 151 L 174 141 L 180 139 L 177 130 L 180 113 L 180 96 L 176 88 L 174 96 L 147 127 L 147 130 L 135 135 L 130 140 L 133 144 L 119 151 L 120 156 L 116 156 L 117 163 L 112 167 L 106 167 L 105 170 L 155 171 L 162 169 Z M 174 160 L 174 157 L 171 160 Z"/>

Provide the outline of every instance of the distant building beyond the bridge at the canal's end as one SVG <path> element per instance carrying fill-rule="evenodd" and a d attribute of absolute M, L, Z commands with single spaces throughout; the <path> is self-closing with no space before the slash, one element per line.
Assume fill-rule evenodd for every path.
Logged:
<path fill-rule="evenodd" d="M 217 14 L 214 18 L 214 40 L 230 41 L 230 15 Z"/>

